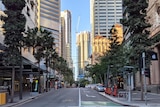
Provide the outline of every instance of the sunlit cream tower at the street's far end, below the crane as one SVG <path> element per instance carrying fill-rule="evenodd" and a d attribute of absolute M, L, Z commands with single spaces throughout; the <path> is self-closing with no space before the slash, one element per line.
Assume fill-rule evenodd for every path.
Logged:
<path fill-rule="evenodd" d="M 77 49 L 78 49 L 78 72 L 84 74 L 85 66 L 89 61 L 90 56 L 90 32 L 84 31 L 77 34 Z"/>

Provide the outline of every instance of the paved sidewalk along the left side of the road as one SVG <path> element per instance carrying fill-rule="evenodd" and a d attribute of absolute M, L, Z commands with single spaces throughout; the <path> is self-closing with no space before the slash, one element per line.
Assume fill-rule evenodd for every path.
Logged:
<path fill-rule="evenodd" d="M 40 93 L 40 94 L 38 92 L 32 92 L 32 93 L 31 92 L 23 92 L 22 100 L 19 99 L 19 93 L 15 93 L 13 103 L 10 103 L 10 98 L 9 98 L 8 102 L 5 105 L 0 105 L 0 107 L 14 107 L 15 105 L 29 102 L 37 97 L 40 97 L 40 96 L 47 94 L 47 93 L 50 93 L 53 90 L 54 89 L 51 89 L 48 92 L 44 92 L 44 93 Z"/>

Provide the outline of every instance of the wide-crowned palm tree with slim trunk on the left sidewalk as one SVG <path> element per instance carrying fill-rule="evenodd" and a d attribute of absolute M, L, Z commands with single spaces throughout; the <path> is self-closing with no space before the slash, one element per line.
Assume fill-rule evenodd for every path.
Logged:
<path fill-rule="evenodd" d="M 52 37 L 52 32 L 37 27 L 28 29 L 25 32 L 25 37 L 23 39 L 24 45 L 33 49 L 33 55 L 37 60 L 38 67 L 40 68 L 40 61 L 45 60 L 45 65 L 48 71 L 50 66 L 50 58 L 53 53 L 55 53 L 54 38 Z M 40 85 L 40 69 L 39 69 L 39 92 L 41 92 Z"/>

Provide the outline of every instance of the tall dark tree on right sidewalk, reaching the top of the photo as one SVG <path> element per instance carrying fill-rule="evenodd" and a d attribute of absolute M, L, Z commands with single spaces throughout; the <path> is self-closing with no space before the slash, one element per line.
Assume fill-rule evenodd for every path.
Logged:
<path fill-rule="evenodd" d="M 139 67 L 139 58 L 142 52 L 150 50 L 148 47 L 152 45 L 152 39 L 149 38 L 150 32 L 146 9 L 148 7 L 147 0 L 124 0 L 124 7 L 128 17 L 121 20 L 121 23 L 129 28 L 131 52 L 130 63 L 136 68 Z M 147 67 L 150 65 L 150 58 L 146 58 Z M 141 68 L 139 69 L 141 71 Z M 141 73 L 140 73 L 141 74 Z M 143 100 L 143 81 L 141 76 L 141 100 Z"/>

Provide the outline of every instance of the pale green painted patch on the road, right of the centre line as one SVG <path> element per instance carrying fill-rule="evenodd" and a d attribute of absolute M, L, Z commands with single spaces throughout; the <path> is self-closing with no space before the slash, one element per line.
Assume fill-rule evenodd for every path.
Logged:
<path fill-rule="evenodd" d="M 120 106 L 119 104 L 113 102 L 104 102 L 104 101 L 82 101 L 82 106 Z"/>

